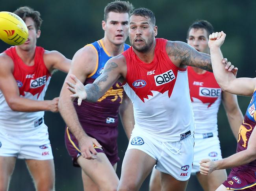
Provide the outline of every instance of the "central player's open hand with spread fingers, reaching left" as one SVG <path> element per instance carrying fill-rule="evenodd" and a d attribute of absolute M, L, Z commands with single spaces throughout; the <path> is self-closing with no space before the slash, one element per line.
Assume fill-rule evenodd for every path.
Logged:
<path fill-rule="evenodd" d="M 72 84 L 71 82 L 66 81 L 66 84 L 69 85 L 67 89 L 73 93 L 70 95 L 70 97 L 78 98 L 77 104 L 78 106 L 81 106 L 82 100 L 86 99 L 87 97 L 87 93 L 84 89 L 83 83 L 78 78 L 76 78 L 75 75 L 70 74 L 70 78 L 75 82 L 75 84 Z"/>

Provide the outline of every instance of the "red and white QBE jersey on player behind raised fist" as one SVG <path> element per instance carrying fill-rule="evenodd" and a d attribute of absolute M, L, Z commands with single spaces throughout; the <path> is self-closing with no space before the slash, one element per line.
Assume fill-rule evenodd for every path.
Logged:
<path fill-rule="evenodd" d="M 187 67 L 190 97 L 195 114 L 197 134 L 218 134 L 217 113 L 221 104 L 221 88 L 213 73 L 206 71 L 197 74 L 192 67 Z"/>

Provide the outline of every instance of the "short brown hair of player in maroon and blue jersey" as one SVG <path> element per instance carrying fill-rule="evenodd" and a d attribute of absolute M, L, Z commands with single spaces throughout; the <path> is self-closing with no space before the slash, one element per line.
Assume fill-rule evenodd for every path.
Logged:
<path fill-rule="evenodd" d="M 134 9 L 134 6 L 128 1 L 116 0 L 116 1 L 110 2 L 104 8 L 104 21 L 107 21 L 109 12 L 128 13 L 128 15 L 130 15 L 133 9 Z"/>

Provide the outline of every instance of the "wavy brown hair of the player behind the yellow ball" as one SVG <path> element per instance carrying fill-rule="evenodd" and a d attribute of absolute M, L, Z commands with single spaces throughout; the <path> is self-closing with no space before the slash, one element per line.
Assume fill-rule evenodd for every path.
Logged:
<path fill-rule="evenodd" d="M 43 20 L 41 19 L 41 15 L 38 11 L 34 11 L 31 7 L 24 6 L 19 7 L 16 11 L 13 12 L 14 14 L 18 15 L 22 20 L 25 21 L 27 17 L 31 17 L 35 22 L 35 29 L 38 31 L 41 27 Z"/>

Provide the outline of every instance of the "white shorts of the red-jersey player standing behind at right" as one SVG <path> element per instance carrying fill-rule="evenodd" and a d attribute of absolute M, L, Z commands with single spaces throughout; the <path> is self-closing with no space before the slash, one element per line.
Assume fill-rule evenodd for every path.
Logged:
<path fill-rule="evenodd" d="M 194 162 L 192 174 L 199 172 L 200 160 L 210 158 L 211 160 L 221 160 L 221 146 L 218 136 L 195 139 Z"/>

